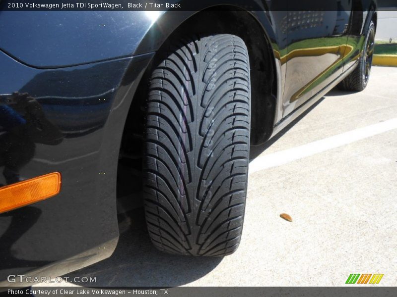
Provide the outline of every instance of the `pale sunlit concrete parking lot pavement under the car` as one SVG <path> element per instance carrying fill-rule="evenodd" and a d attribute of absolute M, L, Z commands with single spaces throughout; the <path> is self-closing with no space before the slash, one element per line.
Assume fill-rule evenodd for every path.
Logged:
<path fill-rule="evenodd" d="M 136 209 L 122 218 L 113 256 L 68 277 L 95 276 L 85 286 L 96 287 L 343 286 L 351 273 L 383 273 L 376 286 L 395 286 L 396 82 L 397 68 L 374 67 L 365 91 L 331 91 L 269 147 L 255 149 L 273 165 L 259 162 L 250 173 L 243 238 L 233 255 L 163 254 Z M 287 149 L 300 155 L 285 161 Z"/>

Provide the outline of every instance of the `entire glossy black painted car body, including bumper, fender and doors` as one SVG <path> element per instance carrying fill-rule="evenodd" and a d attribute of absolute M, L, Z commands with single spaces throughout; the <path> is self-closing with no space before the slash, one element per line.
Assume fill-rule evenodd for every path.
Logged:
<path fill-rule="evenodd" d="M 356 65 L 367 10 L 376 8 L 340 0 L 313 15 L 293 3 L 252 1 L 262 10 L 249 12 L 272 47 L 274 131 Z M 321 1 L 308 3 L 322 11 Z M 55 171 L 63 182 L 56 197 L 0 214 L 0 281 L 55 262 L 52 273 L 66 273 L 113 251 L 117 161 L 133 95 L 154 51 L 194 13 L 0 11 L 0 94 L 19 92 L 12 98 L 24 102 L 0 102 L 0 184 Z"/>

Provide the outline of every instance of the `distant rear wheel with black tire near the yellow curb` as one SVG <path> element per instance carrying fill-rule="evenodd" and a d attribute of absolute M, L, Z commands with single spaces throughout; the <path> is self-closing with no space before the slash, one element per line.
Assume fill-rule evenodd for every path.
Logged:
<path fill-rule="evenodd" d="M 367 36 L 365 38 L 364 48 L 361 52 L 359 63 L 356 69 L 346 76 L 338 85 L 343 91 L 360 92 L 367 87 L 369 75 L 371 72 L 372 57 L 375 47 L 375 25 L 371 21 Z"/>

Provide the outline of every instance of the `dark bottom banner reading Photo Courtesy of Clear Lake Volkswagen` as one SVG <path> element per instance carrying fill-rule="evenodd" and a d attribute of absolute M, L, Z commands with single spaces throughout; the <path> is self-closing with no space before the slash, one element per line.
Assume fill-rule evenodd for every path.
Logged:
<path fill-rule="evenodd" d="M 177 288 L 0 288 L 4 296 L 35 297 L 395 297 L 397 287 L 177 287 Z"/>

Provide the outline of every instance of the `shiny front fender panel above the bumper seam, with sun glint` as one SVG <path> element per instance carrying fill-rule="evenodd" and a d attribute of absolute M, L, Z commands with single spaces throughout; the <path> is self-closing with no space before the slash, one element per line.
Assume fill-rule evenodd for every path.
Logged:
<path fill-rule="evenodd" d="M 45 68 L 130 56 L 151 23 L 140 11 L 1 11 L 0 49 Z"/>

